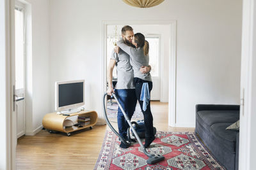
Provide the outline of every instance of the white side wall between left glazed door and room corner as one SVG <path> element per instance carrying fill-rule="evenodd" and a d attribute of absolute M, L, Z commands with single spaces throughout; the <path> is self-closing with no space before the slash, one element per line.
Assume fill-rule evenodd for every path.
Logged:
<path fill-rule="evenodd" d="M 31 39 L 27 39 L 31 51 L 27 51 L 26 135 L 33 135 L 40 131 L 42 119 L 50 111 L 49 0 L 26 2 L 31 6 L 31 22 L 28 26 L 31 26 L 32 33 Z"/>

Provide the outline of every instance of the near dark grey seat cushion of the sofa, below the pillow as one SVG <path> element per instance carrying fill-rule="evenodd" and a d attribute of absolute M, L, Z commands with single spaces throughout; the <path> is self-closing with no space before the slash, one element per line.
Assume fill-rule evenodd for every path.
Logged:
<path fill-rule="evenodd" d="M 229 152 L 236 152 L 236 131 L 226 130 L 232 123 L 219 123 L 211 125 L 211 132 L 214 138 L 219 141 L 216 145 L 222 145 Z"/>

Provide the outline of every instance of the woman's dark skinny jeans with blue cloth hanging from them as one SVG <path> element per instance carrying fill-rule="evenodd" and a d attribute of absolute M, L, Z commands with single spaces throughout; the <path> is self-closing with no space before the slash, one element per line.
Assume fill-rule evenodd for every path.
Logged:
<path fill-rule="evenodd" d="M 140 94 L 141 94 L 141 89 L 142 89 L 143 83 L 148 83 L 148 88 L 149 88 L 148 90 L 150 93 L 152 90 L 152 87 L 153 87 L 152 81 L 145 81 L 140 78 L 134 78 L 136 97 L 140 103 L 140 108 L 144 115 L 144 122 L 145 122 L 145 128 L 146 128 L 145 137 L 151 138 L 154 136 L 154 129 L 153 129 L 153 117 L 152 117 L 152 113 L 150 110 L 150 101 L 147 105 L 147 110 L 143 111 L 143 101 L 140 100 Z"/>

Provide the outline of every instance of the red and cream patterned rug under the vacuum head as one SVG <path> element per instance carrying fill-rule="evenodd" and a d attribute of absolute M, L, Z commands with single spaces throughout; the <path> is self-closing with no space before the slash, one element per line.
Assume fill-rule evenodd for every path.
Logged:
<path fill-rule="evenodd" d="M 165 159 L 154 165 L 147 164 L 148 157 L 138 143 L 127 149 L 119 145 L 117 136 L 107 131 L 95 169 L 225 169 L 192 132 L 157 132 L 147 151 Z"/>

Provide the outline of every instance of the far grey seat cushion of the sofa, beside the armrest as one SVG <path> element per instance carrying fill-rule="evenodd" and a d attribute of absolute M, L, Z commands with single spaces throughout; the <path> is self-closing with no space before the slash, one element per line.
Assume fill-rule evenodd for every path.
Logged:
<path fill-rule="evenodd" d="M 196 114 L 199 119 L 198 123 L 208 131 L 212 124 L 234 123 L 239 120 L 239 110 L 204 110 L 198 111 Z"/>

